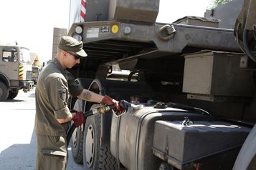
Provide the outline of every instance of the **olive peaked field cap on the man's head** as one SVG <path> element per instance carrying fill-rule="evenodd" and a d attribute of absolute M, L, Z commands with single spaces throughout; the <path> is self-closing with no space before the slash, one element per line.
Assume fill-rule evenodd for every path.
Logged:
<path fill-rule="evenodd" d="M 78 56 L 87 56 L 82 49 L 82 41 L 77 41 L 77 39 L 74 39 L 71 36 L 62 36 L 58 47 L 64 51 L 74 52 Z"/>

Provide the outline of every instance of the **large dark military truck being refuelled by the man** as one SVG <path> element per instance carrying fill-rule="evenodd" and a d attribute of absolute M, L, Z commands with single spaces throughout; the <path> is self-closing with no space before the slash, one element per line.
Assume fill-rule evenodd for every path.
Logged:
<path fill-rule="evenodd" d="M 70 69 L 77 82 L 140 105 L 87 117 L 72 136 L 73 158 L 85 169 L 255 169 L 255 1 L 171 24 L 156 23 L 158 7 L 87 1 L 85 22 L 72 24 L 68 35 L 88 54 Z"/>

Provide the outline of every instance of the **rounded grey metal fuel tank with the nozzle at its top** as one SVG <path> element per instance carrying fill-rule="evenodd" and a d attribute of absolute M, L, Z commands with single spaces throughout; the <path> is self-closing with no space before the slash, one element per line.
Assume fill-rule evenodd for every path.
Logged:
<path fill-rule="evenodd" d="M 126 169 L 158 169 L 161 159 L 153 155 L 153 134 L 155 122 L 183 121 L 189 117 L 191 121 L 211 121 L 212 116 L 195 114 L 182 109 L 156 109 L 144 105 L 141 109 L 128 109 L 123 116 L 113 116 L 110 134 L 110 151 Z M 161 133 L 161 132 L 159 132 Z"/>

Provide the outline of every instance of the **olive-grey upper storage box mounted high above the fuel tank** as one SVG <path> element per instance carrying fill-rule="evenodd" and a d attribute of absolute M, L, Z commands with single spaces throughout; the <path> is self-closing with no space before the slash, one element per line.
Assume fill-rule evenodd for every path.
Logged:
<path fill-rule="evenodd" d="M 211 96 L 253 96 L 252 72 L 240 69 L 241 56 L 221 51 L 186 54 L 183 92 Z"/>

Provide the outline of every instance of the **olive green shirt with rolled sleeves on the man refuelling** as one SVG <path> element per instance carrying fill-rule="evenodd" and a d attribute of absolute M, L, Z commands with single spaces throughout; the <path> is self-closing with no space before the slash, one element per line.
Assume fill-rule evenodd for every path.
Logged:
<path fill-rule="evenodd" d="M 37 134 L 65 136 L 68 123 L 60 124 L 57 119 L 69 116 L 68 99 L 82 93 L 83 87 L 72 75 L 62 68 L 57 59 L 51 61 L 39 74 L 35 91 Z"/>

